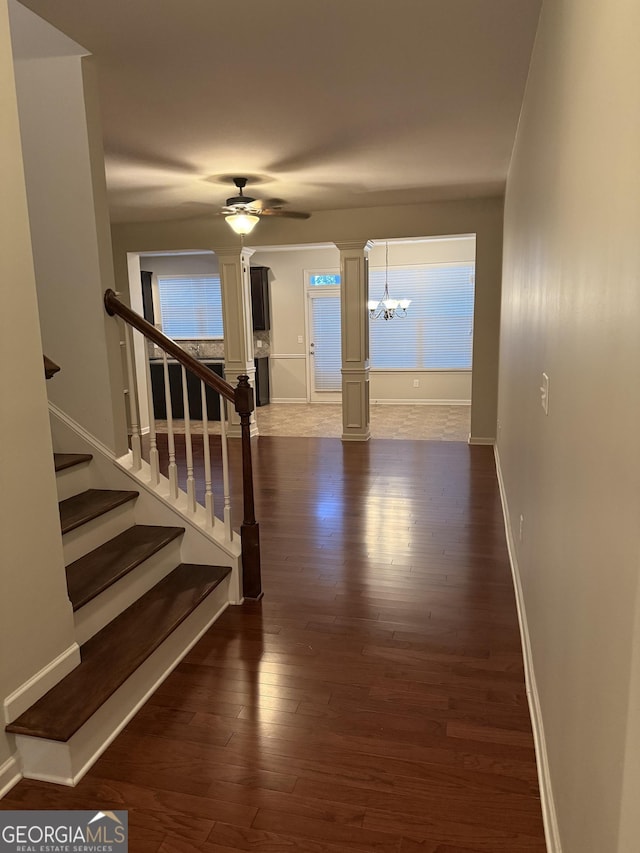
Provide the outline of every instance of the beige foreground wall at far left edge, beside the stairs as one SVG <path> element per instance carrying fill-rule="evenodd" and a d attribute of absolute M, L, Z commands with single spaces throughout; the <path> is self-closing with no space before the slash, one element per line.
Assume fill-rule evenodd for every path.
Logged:
<path fill-rule="evenodd" d="M 0 0 L 0 701 L 73 643 L 7 4 Z M 51 380 L 55 382 L 56 380 Z M 12 741 L 0 724 L 0 789 Z M 3 768 L 5 770 L 3 771 Z"/>

